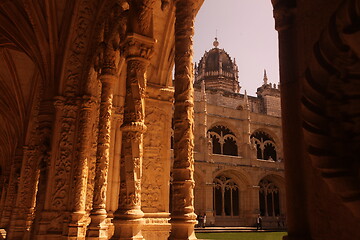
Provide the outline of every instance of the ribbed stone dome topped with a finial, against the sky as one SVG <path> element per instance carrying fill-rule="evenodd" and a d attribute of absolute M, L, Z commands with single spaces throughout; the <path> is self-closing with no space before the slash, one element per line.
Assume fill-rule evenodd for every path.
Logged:
<path fill-rule="evenodd" d="M 213 43 L 214 48 L 206 51 L 199 65 L 195 65 L 195 85 L 201 85 L 204 80 L 207 89 L 220 89 L 238 93 L 240 91 L 238 67 L 231 60 L 224 49 L 219 49 L 217 38 Z"/>

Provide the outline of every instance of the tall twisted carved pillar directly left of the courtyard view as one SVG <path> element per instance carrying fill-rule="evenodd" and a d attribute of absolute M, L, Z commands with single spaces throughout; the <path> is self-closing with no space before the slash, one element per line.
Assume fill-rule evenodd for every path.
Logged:
<path fill-rule="evenodd" d="M 193 0 L 176 1 L 173 211 L 169 239 L 196 239 L 194 225 Z"/>

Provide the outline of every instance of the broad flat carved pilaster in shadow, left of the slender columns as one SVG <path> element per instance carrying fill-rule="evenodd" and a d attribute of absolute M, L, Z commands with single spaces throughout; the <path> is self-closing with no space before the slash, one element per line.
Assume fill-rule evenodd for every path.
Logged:
<path fill-rule="evenodd" d="M 76 119 L 79 110 L 74 97 L 58 96 L 54 101 L 55 124 L 46 196 L 36 227 L 36 239 L 54 239 L 64 235 L 64 222 L 69 216 L 72 166 L 75 158 Z"/>

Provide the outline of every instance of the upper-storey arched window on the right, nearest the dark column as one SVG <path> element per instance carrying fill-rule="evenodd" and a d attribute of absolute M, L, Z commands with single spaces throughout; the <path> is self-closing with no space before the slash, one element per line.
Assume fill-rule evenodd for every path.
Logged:
<path fill-rule="evenodd" d="M 269 134 L 258 131 L 250 138 L 251 142 L 256 144 L 257 159 L 277 160 L 275 141 Z"/>

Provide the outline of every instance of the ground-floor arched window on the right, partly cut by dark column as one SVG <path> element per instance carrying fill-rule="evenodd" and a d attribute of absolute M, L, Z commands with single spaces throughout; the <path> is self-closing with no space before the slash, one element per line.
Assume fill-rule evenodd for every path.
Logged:
<path fill-rule="evenodd" d="M 279 188 L 271 181 L 262 179 L 259 183 L 259 203 L 261 216 L 279 216 Z"/>

